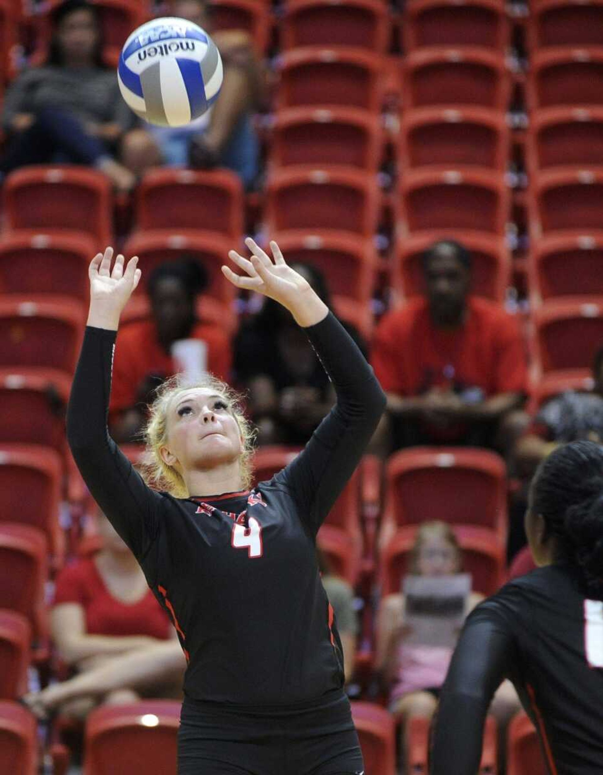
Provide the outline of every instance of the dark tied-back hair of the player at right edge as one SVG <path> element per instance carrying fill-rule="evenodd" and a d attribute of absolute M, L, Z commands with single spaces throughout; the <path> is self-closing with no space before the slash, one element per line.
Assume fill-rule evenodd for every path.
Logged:
<path fill-rule="evenodd" d="M 554 536 L 558 560 L 578 567 L 588 598 L 603 599 L 603 447 L 590 441 L 558 447 L 532 483 L 532 512 Z"/>

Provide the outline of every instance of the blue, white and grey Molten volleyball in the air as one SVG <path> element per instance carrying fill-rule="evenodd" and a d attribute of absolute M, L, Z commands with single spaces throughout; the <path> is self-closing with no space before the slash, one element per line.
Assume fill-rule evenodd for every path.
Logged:
<path fill-rule="evenodd" d="M 222 86 L 222 59 L 201 27 L 165 17 L 129 36 L 119 57 L 119 89 L 141 119 L 184 126 L 211 107 Z"/>

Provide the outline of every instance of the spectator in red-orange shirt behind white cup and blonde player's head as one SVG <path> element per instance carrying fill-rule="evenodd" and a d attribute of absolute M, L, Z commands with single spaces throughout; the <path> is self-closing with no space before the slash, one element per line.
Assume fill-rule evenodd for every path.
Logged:
<path fill-rule="evenodd" d="M 229 337 L 218 325 L 197 318 L 197 296 L 206 284 L 205 267 L 194 259 L 163 263 L 151 272 L 146 284 L 150 319 L 119 329 L 115 344 L 109 425 L 116 442 L 140 440 L 153 390 L 179 370 L 172 356 L 174 343 L 182 339 L 205 343 L 200 369 L 228 379 Z"/>

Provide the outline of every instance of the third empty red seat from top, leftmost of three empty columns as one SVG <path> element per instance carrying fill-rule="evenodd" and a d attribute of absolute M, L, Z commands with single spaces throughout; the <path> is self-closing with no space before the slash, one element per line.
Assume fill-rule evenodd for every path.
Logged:
<path fill-rule="evenodd" d="M 284 108 L 274 116 L 270 166 L 342 164 L 376 173 L 381 143 L 379 115 L 359 108 Z"/>

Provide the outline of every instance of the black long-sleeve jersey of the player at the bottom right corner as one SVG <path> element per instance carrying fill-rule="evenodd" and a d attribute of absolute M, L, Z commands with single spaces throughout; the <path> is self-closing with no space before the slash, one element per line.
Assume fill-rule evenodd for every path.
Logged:
<path fill-rule="evenodd" d="M 484 718 L 510 678 L 551 775 L 603 773 L 603 602 L 550 565 L 506 584 L 467 618 L 432 735 L 432 775 L 475 775 Z"/>

